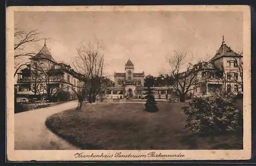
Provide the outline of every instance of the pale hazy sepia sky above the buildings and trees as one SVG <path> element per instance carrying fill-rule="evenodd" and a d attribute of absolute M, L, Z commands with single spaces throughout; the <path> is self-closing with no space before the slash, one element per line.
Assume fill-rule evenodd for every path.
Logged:
<path fill-rule="evenodd" d="M 168 73 L 166 57 L 184 50 L 193 59 L 211 58 L 222 43 L 234 51 L 243 49 L 242 12 L 15 12 L 14 26 L 37 29 L 48 38 L 47 47 L 56 61 L 72 64 L 80 44 L 101 43 L 105 75 L 124 72 L 130 59 L 135 72 Z M 39 51 L 44 41 L 30 44 Z"/>

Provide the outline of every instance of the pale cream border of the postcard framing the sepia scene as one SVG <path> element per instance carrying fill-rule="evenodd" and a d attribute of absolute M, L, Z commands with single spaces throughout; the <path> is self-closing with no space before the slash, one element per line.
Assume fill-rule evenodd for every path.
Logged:
<path fill-rule="evenodd" d="M 107 160 L 243 160 L 251 158 L 251 57 L 244 56 L 244 149 L 243 150 L 154 150 L 156 153 L 182 154 L 183 158 L 75 158 L 74 153 L 115 153 L 118 150 L 14 150 L 14 82 L 13 78 L 13 27 L 15 11 L 241 11 L 244 15 L 243 44 L 244 54 L 251 55 L 251 19 L 250 7 L 247 5 L 216 5 L 216 6 L 23 6 L 7 8 L 7 50 L 6 50 L 6 92 L 7 92 L 7 157 L 12 161 L 107 161 Z M 246 63 L 249 62 L 249 63 Z M 120 150 L 119 150 L 120 151 Z M 124 154 L 147 154 L 153 150 L 121 150 Z M 53 155 L 54 154 L 54 155 Z M 203 155 L 202 155 L 203 154 Z"/>

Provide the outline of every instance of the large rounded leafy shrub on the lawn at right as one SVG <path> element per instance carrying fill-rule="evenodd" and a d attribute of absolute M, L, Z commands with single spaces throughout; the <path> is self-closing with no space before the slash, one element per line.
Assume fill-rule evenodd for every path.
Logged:
<path fill-rule="evenodd" d="M 232 98 L 194 98 L 182 110 L 187 116 L 185 128 L 191 132 L 218 134 L 242 130 L 243 113 L 232 103 Z"/>

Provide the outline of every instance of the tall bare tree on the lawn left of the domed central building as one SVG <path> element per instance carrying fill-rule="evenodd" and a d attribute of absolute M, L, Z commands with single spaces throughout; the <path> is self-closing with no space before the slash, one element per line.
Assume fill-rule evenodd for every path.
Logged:
<path fill-rule="evenodd" d="M 73 60 L 74 68 L 83 75 L 84 89 L 88 94 L 88 101 L 95 102 L 97 94 L 100 92 L 104 53 L 102 47 L 97 43 L 96 46 L 92 44 L 81 44 L 77 49 L 77 57 Z"/>

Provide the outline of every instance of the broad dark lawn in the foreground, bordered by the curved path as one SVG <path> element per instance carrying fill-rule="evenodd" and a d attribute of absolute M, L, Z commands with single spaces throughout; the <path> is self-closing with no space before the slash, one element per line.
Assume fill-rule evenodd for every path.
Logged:
<path fill-rule="evenodd" d="M 241 135 L 200 136 L 184 128 L 188 103 L 159 101 L 157 113 L 143 103 L 84 104 L 46 120 L 47 127 L 81 149 L 242 149 Z"/>

